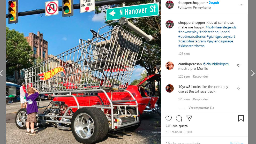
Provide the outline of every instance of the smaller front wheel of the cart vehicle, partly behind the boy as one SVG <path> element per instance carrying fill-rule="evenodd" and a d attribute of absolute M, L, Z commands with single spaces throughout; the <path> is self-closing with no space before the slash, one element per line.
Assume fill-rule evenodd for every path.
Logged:
<path fill-rule="evenodd" d="M 15 116 L 15 124 L 19 129 L 25 130 L 27 122 L 27 110 L 22 108 L 18 110 Z"/>

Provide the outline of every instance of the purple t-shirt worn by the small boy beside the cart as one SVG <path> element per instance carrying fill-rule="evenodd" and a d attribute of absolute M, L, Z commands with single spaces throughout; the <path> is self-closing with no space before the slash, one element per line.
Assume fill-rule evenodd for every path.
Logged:
<path fill-rule="evenodd" d="M 32 95 L 28 96 L 28 93 L 26 93 L 26 100 L 27 100 L 27 114 L 38 112 L 37 104 L 36 104 L 36 98 L 39 96 L 39 93 L 34 93 Z"/>

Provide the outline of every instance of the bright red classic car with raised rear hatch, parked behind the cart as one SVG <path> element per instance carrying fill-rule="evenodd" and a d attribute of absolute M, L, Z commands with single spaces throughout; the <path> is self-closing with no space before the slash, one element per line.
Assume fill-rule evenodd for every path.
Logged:
<path fill-rule="evenodd" d="M 151 74 L 148 75 L 144 80 L 142 80 L 138 85 L 128 85 L 127 89 L 132 93 L 134 98 L 138 102 L 138 109 L 140 113 L 147 112 L 147 113 L 154 113 L 157 112 L 159 107 L 157 105 L 157 101 L 159 97 L 155 96 L 148 96 L 147 92 L 145 92 L 143 87 L 146 87 L 149 85 L 151 82 L 159 81 L 161 75 L 159 74 Z M 113 92 L 113 95 L 111 97 L 111 93 L 107 93 L 109 97 L 111 98 L 112 101 L 117 101 L 117 100 L 131 100 L 131 96 L 127 92 Z M 73 94 L 76 95 L 76 94 Z M 81 95 L 81 94 L 80 94 Z M 56 101 L 57 98 L 55 97 L 53 101 Z M 91 94 L 86 97 L 77 97 L 77 100 L 80 104 L 80 106 L 95 106 L 95 105 L 109 105 L 109 101 L 107 100 L 106 96 L 104 93 L 96 93 L 96 94 Z M 76 102 L 73 97 L 58 97 L 58 101 L 63 101 L 65 104 L 68 106 L 75 106 Z M 126 104 L 135 104 L 135 102 L 125 102 Z M 116 103 L 113 103 L 116 104 Z M 118 103 L 122 104 L 122 103 Z M 73 112 L 75 112 L 77 109 L 73 109 Z M 132 111 L 135 110 L 130 110 L 130 113 L 133 113 Z"/>

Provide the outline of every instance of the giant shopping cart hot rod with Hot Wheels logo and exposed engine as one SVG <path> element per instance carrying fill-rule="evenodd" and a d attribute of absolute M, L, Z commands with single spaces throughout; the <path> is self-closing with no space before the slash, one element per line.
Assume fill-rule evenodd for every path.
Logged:
<path fill-rule="evenodd" d="M 98 32 L 91 30 L 92 39 L 80 39 L 77 47 L 25 71 L 26 88 L 35 87 L 40 94 L 54 98 L 51 107 L 37 113 L 36 125 L 53 124 L 58 129 L 71 130 L 81 143 L 94 143 L 107 133 L 138 127 L 138 102 L 126 88 L 146 42 L 153 37 L 124 17 L 114 22 L 120 26 L 102 33 L 112 22 Z M 125 30 L 128 28 L 142 38 Z M 118 92 L 127 93 L 131 98 L 113 100 L 113 93 Z M 108 102 L 103 102 L 99 94 Z M 73 103 L 61 101 L 63 97 L 72 97 Z M 84 103 L 78 102 L 80 99 Z M 128 112 L 129 109 L 133 112 Z M 20 109 L 16 114 L 18 128 L 26 129 L 26 118 L 26 109 Z"/>

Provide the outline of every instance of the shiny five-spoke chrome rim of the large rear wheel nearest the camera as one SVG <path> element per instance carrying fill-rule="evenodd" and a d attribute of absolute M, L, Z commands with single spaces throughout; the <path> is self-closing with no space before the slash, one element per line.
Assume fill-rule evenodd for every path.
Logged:
<path fill-rule="evenodd" d="M 87 113 L 80 113 L 74 120 L 75 133 L 81 139 L 89 139 L 94 133 L 94 122 Z"/>

